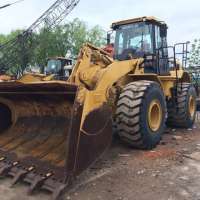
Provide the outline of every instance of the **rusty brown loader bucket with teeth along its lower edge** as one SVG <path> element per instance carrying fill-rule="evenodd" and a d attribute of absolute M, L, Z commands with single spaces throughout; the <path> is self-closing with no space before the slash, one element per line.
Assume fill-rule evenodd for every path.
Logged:
<path fill-rule="evenodd" d="M 44 189 L 54 199 L 88 168 L 112 138 L 103 105 L 82 122 L 79 88 L 66 82 L 0 84 L 0 176 Z"/>

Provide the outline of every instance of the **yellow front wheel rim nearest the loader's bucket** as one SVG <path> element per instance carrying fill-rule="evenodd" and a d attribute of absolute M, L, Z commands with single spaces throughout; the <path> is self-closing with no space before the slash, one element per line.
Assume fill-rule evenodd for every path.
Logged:
<path fill-rule="evenodd" d="M 153 132 L 158 131 L 162 121 L 162 108 L 158 100 L 153 100 L 148 109 L 148 123 Z"/>

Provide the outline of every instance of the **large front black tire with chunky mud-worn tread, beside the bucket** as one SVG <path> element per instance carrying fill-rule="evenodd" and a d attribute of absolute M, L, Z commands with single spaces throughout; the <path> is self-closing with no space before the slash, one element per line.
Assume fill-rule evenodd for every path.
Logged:
<path fill-rule="evenodd" d="M 159 128 L 153 131 L 147 112 L 152 101 L 161 105 Z M 139 149 L 152 149 L 161 140 L 165 130 L 166 102 L 163 91 L 153 81 L 137 81 L 128 84 L 122 91 L 115 115 L 115 124 L 120 138 Z"/>

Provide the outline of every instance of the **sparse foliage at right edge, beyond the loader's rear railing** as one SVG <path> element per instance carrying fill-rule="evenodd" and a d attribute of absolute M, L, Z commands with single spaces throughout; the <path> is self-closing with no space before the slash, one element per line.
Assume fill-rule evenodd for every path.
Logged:
<path fill-rule="evenodd" d="M 192 44 L 189 66 L 200 66 L 200 39 L 195 39 Z"/>

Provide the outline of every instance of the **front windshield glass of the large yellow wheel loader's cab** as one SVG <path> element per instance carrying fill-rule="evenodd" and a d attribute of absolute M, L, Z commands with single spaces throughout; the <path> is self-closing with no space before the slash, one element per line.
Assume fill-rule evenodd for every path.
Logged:
<path fill-rule="evenodd" d="M 152 25 L 140 22 L 120 26 L 116 30 L 115 57 L 128 53 L 153 53 Z"/>

